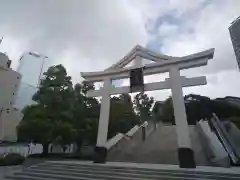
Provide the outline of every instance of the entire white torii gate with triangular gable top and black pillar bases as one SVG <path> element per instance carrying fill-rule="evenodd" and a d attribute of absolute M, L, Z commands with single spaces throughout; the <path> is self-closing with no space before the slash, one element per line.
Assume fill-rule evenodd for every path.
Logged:
<path fill-rule="evenodd" d="M 111 81 L 129 78 L 131 70 L 142 67 L 144 75 L 169 72 L 169 79 L 162 82 L 145 84 L 144 91 L 171 89 L 174 116 L 177 126 L 179 165 L 182 168 L 195 168 L 194 152 L 190 144 L 182 87 L 205 85 L 207 82 L 205 76 L 194 78 L 181 77 L 180 70 L 205 66 L 208 60 L 213 58 L 213 54 L 214 49 L 209 49 L 189 56 L 171 57 L 154 53 L 137 45 L 123 59 L 104 71 L 82 72 L 82 77 L 88 81 L 104 82 L 104 86 L 100 90 L 92 90 L 87 93 L 90 97 L 102 96 L 94 161 L 98 163 L 104 163 L 106 161 L 107 149 L 105 146 L 108 134 L 110 96 L 131 92 L 129 86 L 114 87 Z M 143 66 L 142 58 L 154 61 L 154 63 Z M 135 61 L 135 66 L 124 68 L 133 60 Z"/>

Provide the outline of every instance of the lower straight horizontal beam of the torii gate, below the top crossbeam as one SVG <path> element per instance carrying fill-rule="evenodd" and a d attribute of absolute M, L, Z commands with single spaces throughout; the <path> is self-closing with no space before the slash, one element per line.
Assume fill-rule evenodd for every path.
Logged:
<path fill-rule="evenodd" d="M 200 77 L 194 77 L 194 78 L 185 78 L 181 77 L 182 80 L 182 86 L 183 87 L 190 87 L 190 86 L 199 86 L 199 85 L 206 85 L 207 80 L 205 76 Z M 163 89 L 170 89 L 170 81 L 169 79 L 166 79 L 162 82 L 153 82 L 153 83 L 147 83 L 144 85 L 144 91 L 154 91 L 154 90 L 163 90 Z M 88 91 L 87 96 L 89 97 L 98 97 L 102 96 L 102 94 L 106 93 L 106 91 L 109 93 L 109 95 L 114 94 L 124 94 L 124 93 L 130 93 L 130 87 L 129 86 L 122 86 L 122 87 L 103 87 L 99 90 L 91 90 Z"/>

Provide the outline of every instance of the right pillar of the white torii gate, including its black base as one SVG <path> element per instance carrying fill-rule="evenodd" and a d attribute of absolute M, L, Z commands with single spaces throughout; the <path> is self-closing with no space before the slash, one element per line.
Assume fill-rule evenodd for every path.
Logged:
<path fill-rule="evenodd" d="M 191 140 L 186 117 L 180 71 L 171 67 L 169 71 L 172 91 L 172 101 L 176 131 L 178 138 L 178 161 L 180 168 L 195 168 L 194 151 L 191 149 Z"/>

